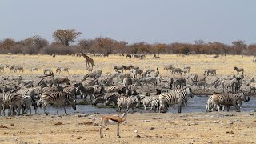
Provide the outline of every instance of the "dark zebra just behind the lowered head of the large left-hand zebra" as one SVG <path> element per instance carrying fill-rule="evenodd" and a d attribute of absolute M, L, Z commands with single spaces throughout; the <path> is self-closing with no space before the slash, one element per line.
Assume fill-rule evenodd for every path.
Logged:
<path fill-rule="evenodd" d="M 82 86 L 82 83 L 78 83 L 75 85 L 76 87 L 76 93 L 80 93 L 81 99 L 86 98 L 88 95 L 90 96 L 90 101 L 93 100 L 94 97 L 94 87 L 93 86 Z M 95 88 L 95 90 L 98 90 L 98 88 Z"/>

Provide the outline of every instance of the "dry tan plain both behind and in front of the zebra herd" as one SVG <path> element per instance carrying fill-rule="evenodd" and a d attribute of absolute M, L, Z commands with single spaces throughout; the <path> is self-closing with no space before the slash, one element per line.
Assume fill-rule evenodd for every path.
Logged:
<path fill-rule="evenodd" d="M 139 60 L 134 58 L 110 55 L 110 57 L 94 58 L 95 69 L 103 73 L 113 72 L 114 66 L 139 66 L 142 70 L 148 68 L 160 71 L 161 75 L 171 76 L 163 70 L 169 64 L 175 67 L 191 66 L 191 74 L 203 75 L 205 69 L 216 69 L 217 78 L 236 74 L 234 66 L 245 69 L 245 78 L 254 78 L 256 63 L 250 56 L 219 56 L 212 55 L 153 55 Z M 87 74 L 86 62 L 82 57 L 57 55 L 0 55 L 0 63 L 5 66 L 23 66 L 24 72 L 1 73 L 9 78 L 21 75 L 25 79 L 34 79 L 42 75 L 42 70 L 58 66 L 70 68 L 70 73 L 54 74 L 56 77 L 70 78 L 71 82 L 82 81 Z M 30 68 L 38 67 L 31 72 Z M 254 78 L 255 79 L 255 78 Z M 1 79 L 3 82 L 3 80 Z M 121 115 L 120 113 L 116 113 Z M 251 112 L 211 112 L 158 114 L 129 113 L 126 122 L 120 126 L 121 138 L 117 138 L 117 126 L 106 126 L 103 129 L 105 138 L 99 138 L 100 118 L 103 114 L 69 115 L 40 114 L 0 117 L 0 143 L 256 143 L 256 113 Z"/>

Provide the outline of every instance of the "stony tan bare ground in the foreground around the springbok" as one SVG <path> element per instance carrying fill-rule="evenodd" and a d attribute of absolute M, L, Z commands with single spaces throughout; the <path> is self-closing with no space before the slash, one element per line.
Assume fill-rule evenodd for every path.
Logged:
<path fill-rule="evenodd" d="M 256 113 L 128 114 L 103 129 L 102 114 L 0 117 L 0 143 L 256 143 Z"/>

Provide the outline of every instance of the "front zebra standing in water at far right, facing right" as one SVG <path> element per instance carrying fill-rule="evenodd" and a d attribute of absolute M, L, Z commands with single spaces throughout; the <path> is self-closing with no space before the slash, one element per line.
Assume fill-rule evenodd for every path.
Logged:
<path fill-rule="evenodd" d="M 221 109 L 221 105 L 228 106 L 227 110 L 229 110 L 229 106 L 233 105 L 237 109 L 237 111 L 242 111 L 242 106 L 240 106 L 240 109 L 239 109 L 239 106 L 237 105 L 237 103 L 242 103 L 242 101 L 248 102 L 250 101 L 250 97 L 246 99 L 246 96 L 243 93 L 213 94 L 212 101 L 214 105 L 217 106 L 218 111 Z"/>

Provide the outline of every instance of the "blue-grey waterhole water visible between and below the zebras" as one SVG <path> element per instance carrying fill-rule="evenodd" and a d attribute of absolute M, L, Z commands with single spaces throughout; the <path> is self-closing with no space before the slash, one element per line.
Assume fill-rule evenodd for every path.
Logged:
<path fill-rule="evenodd" d="M 192 112 L 205 112 L 206 111 L 206 100 L 208 97 L 204 96 L 195 96 L 188 102 L 188 105 L 182 107 L 182 113 L 192 113 Z M 46 110 L 50 112 L 50 114 L 56 114 L 56 107 L 47 107 Z M 77 110 L 79 114 L 93 114 L 93 113 L 102 113 L 102 114 L 111 114 L 115 113 L 117 108 L 99 108 L 97 106 L 90 106 L 90 105 L 77 105 Z M 124 110 L 124 109 L 122 109 Z M 249 102 L 243 102 L 243 111 L 252 111 L 256 110 L 256 98 L 250 97 Z M 74 110 L 71 107 L 67 107 L 66 111 L 68 114 L 74 114 Z M 130 109 L 130 111 L 132 111 Z M 143 110 L 143 109 L 135 109 L 135 111 L 142 112 L 142 113 L 149 113 L 150 110 Z M 235 111 L 234 106 L 230 107 L 230 111 Z M 154 111 L 152 111 L 154 112 Z M 174 107 L 170 107 L 168 113 L 178 113 L 178 105 Z M 33 114 L 33 113 L 32 113 Z M 43 109 L 39 110 L 39 114 L 43 114 Z M 63 108 L 60 108 L 59 114 L 64 114 Z"/>

